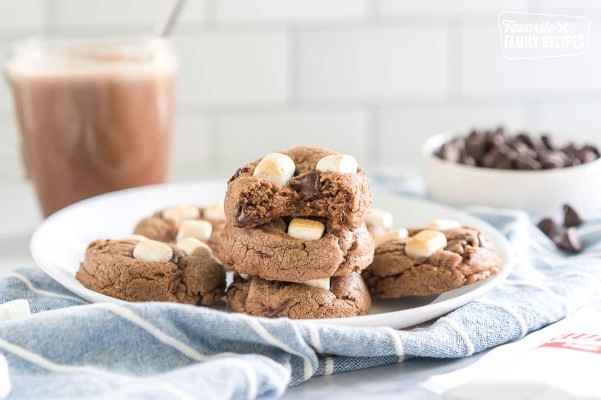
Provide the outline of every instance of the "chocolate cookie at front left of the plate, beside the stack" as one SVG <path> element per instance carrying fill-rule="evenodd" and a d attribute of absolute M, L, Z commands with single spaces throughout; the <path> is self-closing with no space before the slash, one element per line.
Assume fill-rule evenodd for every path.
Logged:
<path fill-rule="evenodd" d="M 215 258 L 189 257 L 168 244 L 168 261 L 133 257 L 138 240 L 90 243 L 76 278 L 88 289 L 130 302 L 160 301 L 206 305 L 221 299 L 225 270 Z"/>

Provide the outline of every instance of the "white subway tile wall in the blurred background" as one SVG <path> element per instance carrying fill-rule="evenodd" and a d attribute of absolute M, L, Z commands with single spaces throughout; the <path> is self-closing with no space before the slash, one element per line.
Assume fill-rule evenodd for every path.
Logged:
<path fill-rule="evenodd" d="M 0 3 L 0 52 L 30 35 L 151 34 L 165 0 Z M 172 180 L 227 178 L 296 145 L 417 169 L 439 131 L 498 124 L 599 140 L 601 7 L 593 0 L 188 0 Z M 584 56 L 507 60 L 500 11 L 591 17 Z M 2 61 L 5 61 L 3 59 Z M 23 181 L 10 92 L 0 82 L 0 184 Z"/>

